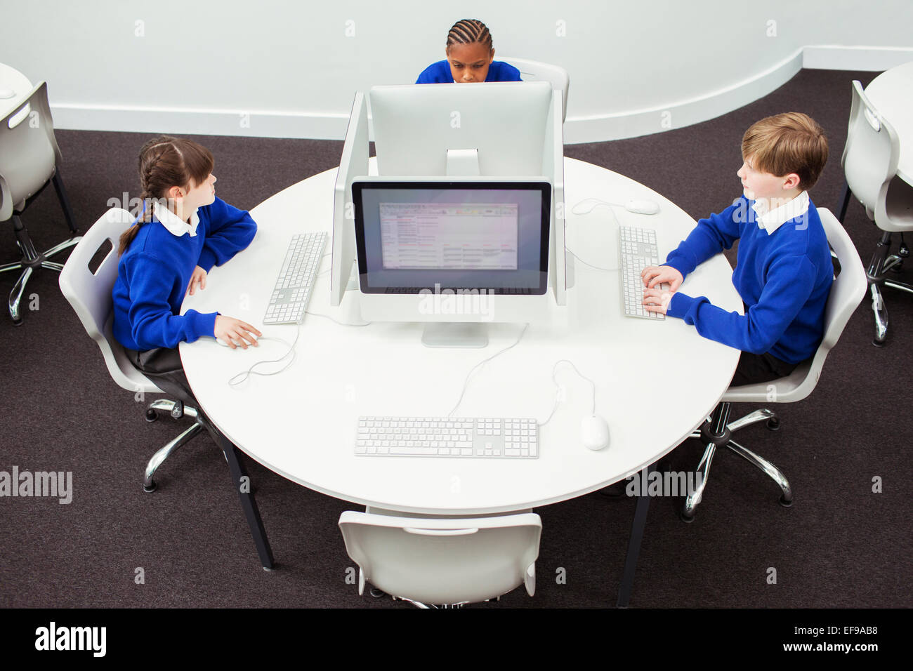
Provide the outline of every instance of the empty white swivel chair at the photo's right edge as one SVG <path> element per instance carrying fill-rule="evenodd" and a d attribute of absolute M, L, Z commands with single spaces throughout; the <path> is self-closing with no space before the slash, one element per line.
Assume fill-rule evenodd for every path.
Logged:
<path fill-rule="evenodd" d="M 884 346 L 887 337 L 887 308 L 881 288 L 897 288 L 913 294 L 913 286 L 886 277 L 888 270 L 899 271 L 903 260 L 909 257 L 903 234 L 913 231 L 913 186 L 897 177 L 899 154 L 894 127 L 866 98 L 862 84 L 854 81 L 849 130 L 840 161 L 846 176 L 840 221 L 844 220 L 852 193 L 866 208 L 868 218 L 882 230 L 866 270 L 872 294 L 872 311 L 875 313 L 875 340 L 872 344 L 876 347 Z M 900 234 L 900 247 L 897 254 L 888 256 L 892 233 Z"/>

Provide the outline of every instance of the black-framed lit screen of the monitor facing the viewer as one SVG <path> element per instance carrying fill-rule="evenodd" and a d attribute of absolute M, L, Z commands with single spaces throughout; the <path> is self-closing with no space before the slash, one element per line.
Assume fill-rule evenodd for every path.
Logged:
<path fill-rule="evenodd" d="M 356 182 L 352 197 L 364 293 L 546 291 L 549 183 Z"/>

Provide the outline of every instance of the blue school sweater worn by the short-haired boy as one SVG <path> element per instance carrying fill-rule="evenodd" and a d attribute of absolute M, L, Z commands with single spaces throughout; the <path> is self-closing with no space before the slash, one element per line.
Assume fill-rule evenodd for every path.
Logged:
<path fill-rule="evenodd" d="M 748 308 L 745 315 L 680 291 L 673 295 L 666 314 L 737 350 L 770 352 L 784 362 L 803 362 L 824 338 L 824 308 L 834 279 L 824 227 L 809 201 L 805 215 L 769 235 L 759 227 L 751 204 L 742 196 L 719 215 L 701 219 L 687 240 L 666 257 L 666 266 L 687 277 L 698 264 L 738 239 L 732 284 Z"/>

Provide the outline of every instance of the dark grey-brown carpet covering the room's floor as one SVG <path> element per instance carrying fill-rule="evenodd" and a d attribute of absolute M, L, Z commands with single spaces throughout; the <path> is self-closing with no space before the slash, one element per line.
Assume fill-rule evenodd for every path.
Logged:
<path fill-rule="evenodd" d="M 831 159 L 813 189 L 815 204 L 836 210 L 850 81 L 869 72 L 803 70 L 763 100 L 680 130 L 568 146 L 566 153 L 656 189 L 696 218 L 740 194 L 742 132 L 763 116 L 800 110 L 822 123 Z M 64 178 L 83 229 L 109 198 L 137 189 L 135 156 L 149 136 L 58 131 Z M 197 138 L 215 153 L 219 194 L 250 208 L 270 194 L 338 163 L 341 142 Z M 40 248 L 64 236 L 52 191 L 24 217 Z M 9 225 L 0 231 L 0 263 L 14 260 Z M 867 262 L 877 231 L 851 204 L 846 228 Z M 910 270 L 900 278 L 911 281 Z M 12 288 L 12 274 L 0 288 Z M 347 584 L 353 565 L 336 521 L 357 509 L 293 485 L 256 463 L 250 475 L 279 563 L 257 562 L 226 463 L 208 437 L 194 440 L 161 469 L 160 489 L 142 492 L 146 460 L 186 421 L 143 421 L 142 404 L 111 382 L 96 345 L 44 271 L 29 293 L 38 308 L 15 328 L 0 315 L 0 397 L 4 399 L 0 470 L 72 471 L 70 505 L 42 498 L 0 498 L 0 605 L 5 606 L 373 606 Z M 913 348 L 913 301 L 891 291 L 885 349 L 870 344 L 869 302 L 855 313 L 831 353 L 813 395 L 777 406 L 782 430 L 757 425 L 742 444 L 790 477 L 795 504 L 777 505 L 771 481 L 732 454 L 714 462 L 698 519 L 677 519 L 680 499 L 654 499 L 632 605 L 911 605 L 909 409 L 906 375 Z M 674 403 L 657 395 L 645 403 Z M 734 414 L 752 408 L 735 406 Z M 252 421 L 254 419 L 252 418 Z M 693 469 L 702 447 L 687 441 L 671 456 Z M 872 492 L 872 478 L 884 492 Z M 614 604 L 633 501 L 600 493 L 537 510 L 543 534 L 535 598 L 522 590 L 500 607 Z M 143 584 L 134 580 L 144 572 Z M 776 584 L 768 584 L 769 569 Z M 563 569 L 566 582 L 555 577 Z M 396 607 L 402 607 L 397 605 Z"/>

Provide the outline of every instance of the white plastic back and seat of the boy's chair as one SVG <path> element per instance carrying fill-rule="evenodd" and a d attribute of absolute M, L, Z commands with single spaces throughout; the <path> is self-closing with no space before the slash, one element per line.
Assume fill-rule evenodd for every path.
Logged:
<path fill-rule="evenodd" d="M 776 397 L 771 398 L 768 387 L 771 383 L 746 384 L 741 387 L 730 387 L 723 400 L 729 402 L 764 402 L 792 403 L 802 401 L 812 393 L 827 354 L 837 344 L 840 334 L 843 333 L 846 322 L 859 307 L 859 303 L 866 296 L 868 280 L 866 268 L 856 251 L 853 240 L 846 233 L 843 225 L 837 221 L 830 210 L 819 207 L 818 216 L 824 226 L 827 241 L 834 248 L 834 255 L 840 262 L 840 274 L 834 278 L 831 293 L 827 297 L 827 306 L 824 309 L 824 339 L 815 351 L 812 362 L 803 363 L 790 375 L 772 382 L 776 389 Z"/>

